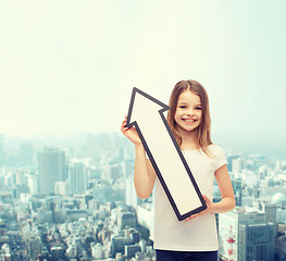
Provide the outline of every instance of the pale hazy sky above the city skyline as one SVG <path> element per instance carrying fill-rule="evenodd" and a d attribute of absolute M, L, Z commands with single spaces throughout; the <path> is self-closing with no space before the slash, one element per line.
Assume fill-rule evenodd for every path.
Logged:
<path fill-rule="evenodd" d="M 222 144 L 286 146 L 283 0 L 0 1 L 0 133 L 119 132 L 133 87 L 209 94 Z"/>

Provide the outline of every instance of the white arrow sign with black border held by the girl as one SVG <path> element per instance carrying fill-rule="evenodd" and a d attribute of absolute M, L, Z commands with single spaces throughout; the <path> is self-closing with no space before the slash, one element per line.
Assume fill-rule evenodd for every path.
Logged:
<path fill-rule="evenodd" d="M 182 221 L 207 206 L 164 116 L 170 109 L 134 87 L 126 126 L 136 127 L 177 219 Z"/>

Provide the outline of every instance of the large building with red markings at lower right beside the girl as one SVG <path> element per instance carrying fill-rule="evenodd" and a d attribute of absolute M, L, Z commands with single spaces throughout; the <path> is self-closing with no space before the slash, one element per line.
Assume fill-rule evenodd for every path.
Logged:
<path fill-rule="evenodd" d="M 221 260 L 274 260 L 275 225 L 253 208 L 236 208 L 219 216 Z"/>

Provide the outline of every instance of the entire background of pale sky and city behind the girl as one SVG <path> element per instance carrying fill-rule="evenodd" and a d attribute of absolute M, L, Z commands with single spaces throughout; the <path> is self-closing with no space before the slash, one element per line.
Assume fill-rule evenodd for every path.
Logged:
<path fill-rule="evenodd" d="M 0 260 L 154 260 L 132 88 L 208 90 L 237 208 L 220 259 L 286 260 L 286 1 L 0 0 Z M 215 185 L 214 199 L 220 199 Z M 167 232 L 166 232 L 167 233 Z"/>

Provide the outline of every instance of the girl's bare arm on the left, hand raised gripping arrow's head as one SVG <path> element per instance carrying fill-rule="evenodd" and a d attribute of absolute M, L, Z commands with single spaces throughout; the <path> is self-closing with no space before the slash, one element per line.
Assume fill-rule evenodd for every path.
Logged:
<path fill-rule="evenodd" d="M 148 198 L 154 186 L 156 172 L 149 160 L 146 159 L 146 152 L 142 142 L 135 127 L 126 128 L 126 116 L 122 122 L 122 133 L 135 145 L 135 167 L 134 185 L 139 198 Z"/>

